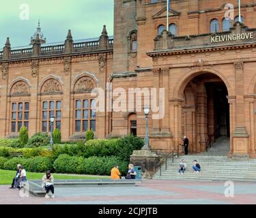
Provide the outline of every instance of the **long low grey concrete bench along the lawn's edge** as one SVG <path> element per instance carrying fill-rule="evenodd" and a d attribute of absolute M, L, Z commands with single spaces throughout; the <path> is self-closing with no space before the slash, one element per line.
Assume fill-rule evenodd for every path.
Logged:
<path fill-rule="evenodd" d="M 97 179 L 97 180 L 55 180 L 54 187 L 99 187 L 99 186 L 135 186 L 141 183 L 141 180 L 111 180 L 111 179 Z M 44 197 L 46 191 L 42 189 L 42 181 L 27 181 L 24 188 L 33 194 L 33 196 Z"/>

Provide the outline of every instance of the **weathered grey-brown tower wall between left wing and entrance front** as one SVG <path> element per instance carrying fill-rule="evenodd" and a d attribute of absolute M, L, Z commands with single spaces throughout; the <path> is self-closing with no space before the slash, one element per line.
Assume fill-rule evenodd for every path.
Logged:
<path fill-rule="evenodd" d="M 114 8 L 114 65 L 113 72 L 115 74 L 134 71 L 129 65 L 130 63 L 130 33 L 137 31 L 137 1 L 115 0 Z"/>

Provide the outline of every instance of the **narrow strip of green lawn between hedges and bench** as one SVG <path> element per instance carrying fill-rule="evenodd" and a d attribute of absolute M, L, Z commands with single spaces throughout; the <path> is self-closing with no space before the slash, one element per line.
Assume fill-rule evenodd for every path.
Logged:
<path fill-rule="evenodd" d="M 12 178 L 14 178 L 16 172 L 10 170 L 0 170 L 0 185 L 11 185 Z M 37 172 L 27 172 L 27 179 L 29 180 L 41 180 L 44 173 Z M 102 176 L 83 176 L 83 175 L 62 175 L 62 174 L 54 174 L 55 179 L 99 179 Z M 103 177 L 104 178 L 104 177 Z M 108 178 L 106 176 L 105 178 Z"/>

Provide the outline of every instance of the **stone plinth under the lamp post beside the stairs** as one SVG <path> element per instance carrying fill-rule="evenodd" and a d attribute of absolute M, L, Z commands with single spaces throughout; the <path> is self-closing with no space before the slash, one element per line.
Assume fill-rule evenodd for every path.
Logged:
<path fill-rule="evenodd" d="M 159 161 L 160 157 L 150 150 L 133 151 L 130 156 L 130 163 L 142 167 L 143 178 L 152 178 Z"/>

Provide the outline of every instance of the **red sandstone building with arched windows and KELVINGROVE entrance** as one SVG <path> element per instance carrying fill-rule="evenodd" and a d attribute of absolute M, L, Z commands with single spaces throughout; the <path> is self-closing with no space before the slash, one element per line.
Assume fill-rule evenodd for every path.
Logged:
<path fill-rule="evenodd" d="M 91 128 L 97 138 L 145 136 L 142 111 L 95 112 L 91 90 L 165 88 L 165 117 L 150 113 L 150 145 L 169 151 L 186 135 L 190 152 L 230 138 L 229 155 L 256 157 L 256 1 L 238 3 L 224 18 L 226 1 L 173 0 L 167 25 L 165 0 L 115 1 L 114 37 L 104 27 L 94 40 L 46 44 L 38 27 L 31 45 L 0 53 L 0 137 L 49 131 L 62 139 Z M 107 95 L 107 94 L 106 94 Z M 115 99 L 113 99 L 115 100 Z M 128 104 L 128 102 L 126 102 Z"/>

